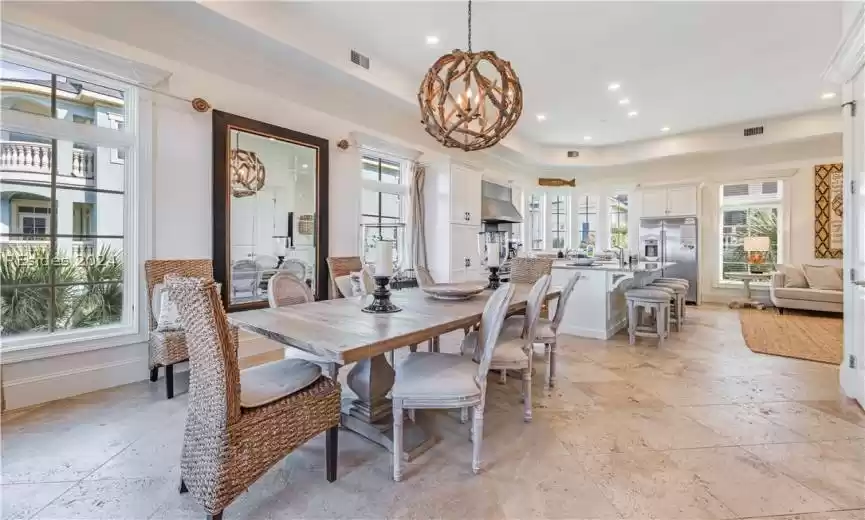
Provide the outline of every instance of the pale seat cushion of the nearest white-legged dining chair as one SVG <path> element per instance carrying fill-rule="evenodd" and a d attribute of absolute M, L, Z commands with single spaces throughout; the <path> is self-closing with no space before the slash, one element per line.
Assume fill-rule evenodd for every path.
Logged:
<path fill-rule="evenodd" d="M 438 352 L 412 352 L 396 368 L 393 399 L 455 399 L 480 396 L 478 366 L 471 358 Z"/>

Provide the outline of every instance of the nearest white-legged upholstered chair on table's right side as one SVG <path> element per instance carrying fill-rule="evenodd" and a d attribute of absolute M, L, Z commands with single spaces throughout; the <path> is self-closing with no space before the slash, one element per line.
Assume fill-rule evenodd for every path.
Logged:
<path fill-rule="evenodd" d="M 487 372 L 515 290 L 512 284 L 502 285 L 487 300 L 477 341 L 477 364 L 468 357 L 456 354 L 412 352 L 397 366 L 390 391 L 393 401 L 394 481 L 402 480 L 403 411 L 420 408 L 474 409 L 472 471 L 480 472 Z"/>

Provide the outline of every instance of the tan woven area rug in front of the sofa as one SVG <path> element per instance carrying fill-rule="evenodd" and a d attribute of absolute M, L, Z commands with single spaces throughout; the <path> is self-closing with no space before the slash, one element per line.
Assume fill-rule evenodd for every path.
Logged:
<path fill-rule="evenodd" d="M 841 363 L 844 320 L 839 316 L 778 314 L 776 309 L 741 309 L 742 336 L 748 348 L 761 354 L 821 363 Z"/>

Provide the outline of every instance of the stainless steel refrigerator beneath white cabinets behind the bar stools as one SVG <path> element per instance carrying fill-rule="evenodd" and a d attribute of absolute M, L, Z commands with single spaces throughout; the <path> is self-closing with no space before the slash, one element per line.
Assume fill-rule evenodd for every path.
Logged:
<path fill-rule="evenodd" d="M 688 280 L 686 301 L 697 303 L 700 283 L 697 252 L 697 217 L 644 218 L 640 220 L 640 260 L 675 262 L 662 276 Z"/>

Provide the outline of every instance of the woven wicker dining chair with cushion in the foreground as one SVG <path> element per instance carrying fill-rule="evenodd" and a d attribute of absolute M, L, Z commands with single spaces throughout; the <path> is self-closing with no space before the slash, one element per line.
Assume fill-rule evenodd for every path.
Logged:
<path fill-rule="evenodd" d="M 307 361 L 238 369 L 212 280 L 171 277 L 189 344 L 189 407 L 180 492 L 221 520 L 222 511 L 295 448 L 322 432 L 327 480 L 336 480 L 339 383 Z"/>

